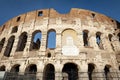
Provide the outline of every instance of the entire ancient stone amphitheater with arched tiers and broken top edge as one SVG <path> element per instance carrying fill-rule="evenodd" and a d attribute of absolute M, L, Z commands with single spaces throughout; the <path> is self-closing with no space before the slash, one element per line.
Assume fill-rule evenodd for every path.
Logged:
<path fill-rule="evenodd" d="M 119 80 L 120 23 L 73 8 L 21 14 L 0 27 L 4 80 Z"/>

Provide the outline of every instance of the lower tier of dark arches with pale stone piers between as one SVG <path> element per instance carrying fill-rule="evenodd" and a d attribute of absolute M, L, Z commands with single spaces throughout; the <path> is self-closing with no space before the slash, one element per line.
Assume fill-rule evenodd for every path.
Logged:
<path fill-rule="evenodd" d="M 79 64 L 74 61 L 63 61 L 63 64 L 60 61 L 56 61 L 55 64 L 38 63 L 37 61 L 14 65 L 11 63 L 9 66 L 0 66 L 0 72 L 7 72 L 6 75 L 15 80 L 18 77 L 26 77 L 28 80 L 31 77 L 32 80 L 115 80 L 120 77 L 119 69 L 114 69 L 112 65 L 106 64 L 98 67 L 94 63 Z"/>

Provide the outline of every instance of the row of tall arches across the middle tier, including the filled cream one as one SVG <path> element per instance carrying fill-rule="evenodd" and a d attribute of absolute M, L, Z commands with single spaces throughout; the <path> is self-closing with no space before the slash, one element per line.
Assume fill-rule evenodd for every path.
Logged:
<path fill-rule="evenodd" d="M 77 45 L 78 42 L 78 36 L 75 30 L 73 29 L 66 29 L 62 32 L 62 45 L 67 44 L 67 37 L 71 37 L 71 39 L 73 40 L 73 45 Z M 96 44 L 98 45 L 98 47 L 100 49 L 104 49 L 103 47 L 103 43 L 101 40 L 101 32 L 96 32 Z M 108 39 L 109 41 L 112 41 L 112 34 L 108 35 Z M 120 38 L 119 34 L 118 37 Z M 26 43 L 27 43 L 27 38 L 28 38 L 28 34 L 27 32 L 23 32 L 20 36 L 19 36 L 19 41 L 17 43 L 17 49 L 16 51 L 23 51 Z M 83 30 L 83 46 L 90 46 L 90 42 L 89 42 L 90 36 L 89 36 L 89 31 L 88 30 Z M 46 42 L 46 48 L 56 48 L 56 31 L 51 29 L 47 32 L 47 42 Z M 13 43 L 15 41 L 15 36 L 11 36 L 8 39 L 8 43 L 4 52 L 4 55 L 9 57 L 10 56 L 10 52 L 12 50 L 13 47 Z M 30 43 L 30 51 L 31 50 L 38 50 L 41 46 L 41 41 L 42 41 L 42 32 L 40 30 L 36 30 L 32 33 L 32 38 L 31 38 L 31 43 Z M 68 41 L 70 42 L 70 41 Z M 5 38 L 3 38 L 0 41 L 0 52 L 4 46 L 5 43 Z M 113 46 L 113 45 L 112 45 Z"/>

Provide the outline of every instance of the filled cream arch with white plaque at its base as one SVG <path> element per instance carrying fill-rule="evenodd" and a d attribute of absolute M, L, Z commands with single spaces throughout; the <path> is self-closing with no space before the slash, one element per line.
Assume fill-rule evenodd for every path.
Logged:
<path fill-rule="evenodd" d="M 65 29 L 62 32 L 62 53 L 67 56 L 79 55 L 77 32 L 73 29 Z"/>

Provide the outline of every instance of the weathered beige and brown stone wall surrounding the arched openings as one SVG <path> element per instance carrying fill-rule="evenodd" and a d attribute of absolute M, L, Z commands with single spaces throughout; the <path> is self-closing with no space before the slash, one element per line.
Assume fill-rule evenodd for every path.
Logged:
<path fill-rule="evenodd" d="M 40 11 L 42 14 L 38 16 Z M 16 21 L 18 17 L 20 20 Z M 15 26 L 18 26 L 18 31 L 11 33 Z M 64 64 L 74 63 L 78 66 L 79 72 L 87 72 L 88 64 L 93 63 L 96 70 L 102 71 L 105 65 L 111 65 L 112 69 L 118 70 L 120 60 L 116 55 L 120 54 L 120 41 L 117 34 L 120 30 L 117 26 L 115 20 L 103 14 L 83 9 L 72 9 L 68 14 L 59 14 L 54 9 L 21 14 L 0 27 L 0 40 L 5 38 L 5 44 L 0 53 L 0 66 L 4 65 L 5 71 L 10 71 L 14 65 L 19 64 L 20 72 L 25 72 L 27 66 L 36 64 L 38 72 L 43 72 L 47 64 L 53 64 L 55 71 L 61 72 Z M 47 32 L 51 29 L 56 32 L 56 48 L 46 49 Z M 41 46 L 39 50 L 30 51 L 32 33 L 36 30 L 40 30 L 42 33 Z M 88 46 L 84 46 L 84 30 L 88 31 Z M 19 36 L 23 32 L 27 32 L 27 43 L 24 51 L 16 51 Z M 99 48 L 96 43 L 97 32 L 101 33 L 103 49 Z M 63 36 L 64 34 L 65 36 Z M 109 34 L 112 35 L 111 41 L 108 37 Z M 12 35 L 15 36 L 15 41 L 10 56 L 6 57 L 4 56 L 5 48 Z M 72 41 L 69 42 L 68 39 L 67 46 L 66 38 L 68 36 L 72 36 L 70 38 Z M 65 45 L 67 48 L 63 48 Z M 68 51 L 70 49 L 73 50 Z M 74 51 L 75 49 L 76 51 Z M 46 56 L 48 52 L 51 53 L 51 57 Z M 64 52 L 68 52 L 68 55 L 64 55 Z M 74 53 L 78 54 L 74 55 Z"/>

